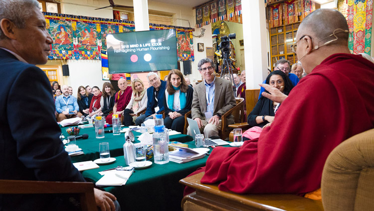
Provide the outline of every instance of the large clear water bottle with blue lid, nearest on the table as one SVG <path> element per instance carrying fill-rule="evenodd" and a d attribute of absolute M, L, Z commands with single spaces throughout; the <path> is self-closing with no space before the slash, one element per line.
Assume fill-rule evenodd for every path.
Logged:
<path fill-rule="evenodd" d="M 153 133 L 153 154 L 156 164 L 169 163 L 169 137 L 164 131 L 165 126 L 155 126 Z"/>

